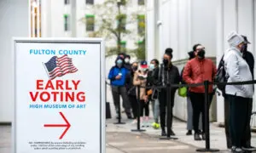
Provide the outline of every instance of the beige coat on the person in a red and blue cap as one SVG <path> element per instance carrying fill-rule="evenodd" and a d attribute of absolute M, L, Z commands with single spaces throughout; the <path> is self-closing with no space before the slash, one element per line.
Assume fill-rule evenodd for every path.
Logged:
<path fill-rule="evenodd" d="M 139 74 L 140 74 L 139 71 L 135 72 L 134 77 L 133 77 L 133 85 L 134 86 L 140 85 L 142 87 L 145 87 L 146 83 L 147 83 L 147 79 L 140 80 L 138 78 Z M 137 94 L 137 88 L 136 88 L 136 94 Z M 146 95 L 146 88 L 140 88 L 140 99 L 148 101 L 148 96 Z"/>

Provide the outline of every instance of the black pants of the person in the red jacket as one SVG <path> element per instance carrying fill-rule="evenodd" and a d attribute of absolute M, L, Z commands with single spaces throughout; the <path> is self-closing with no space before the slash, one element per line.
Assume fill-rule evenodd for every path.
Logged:
<path fill-rule="evenodd" d="M 212 96 L 213 94 L 209 94 L 209 103 L 208 104 L 208 109 L 210 109 L 211 103 L 212 103 Z M 201 119 L 202 119 L 202 132 L 205 133 L 205 94 L 204 93 L 190 93 L 190 99 L 191 99 L 191 104 L 193 107 L 193 127 L 195 133 L 199 133 L 199 117 L 200 114 Z"/>

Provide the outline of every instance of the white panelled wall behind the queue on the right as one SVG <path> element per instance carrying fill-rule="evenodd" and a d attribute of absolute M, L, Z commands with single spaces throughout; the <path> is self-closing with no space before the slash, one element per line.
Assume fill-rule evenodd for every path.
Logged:
<path fill-rule="evenodd" d="M 161 60 L 173 48 L 173 63 L 181 71 L 195 43 L 206 47 L 216 65 L 228 48 L 230 31 L 247 36 L 248 50 L 255 54 L 255 1 L 253 0 L 158 0 L 147 3 L 147 58 Z M 187 120 L 186 99 L 176 96 L 175 116 Z M 255 100 L 253 102 L 255 110 Z M 210 112 L 212 121 L 224 122 L 224 99 L 216 95 Z M 252 120 L 256 126 L 255 119 Z"/>

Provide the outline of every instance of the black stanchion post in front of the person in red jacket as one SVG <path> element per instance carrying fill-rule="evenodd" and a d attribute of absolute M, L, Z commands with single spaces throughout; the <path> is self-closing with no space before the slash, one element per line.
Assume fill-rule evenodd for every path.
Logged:
<path fill-rule="evenodd" d="M 198 152 L 218 152 L 218 149 L 211 149 L 210 148 L 210 122 L 209 122 L 209 81 L 204 82 L 205 86 L 205 134 L 206 134 L 206 148 L 198 149 Z"/>

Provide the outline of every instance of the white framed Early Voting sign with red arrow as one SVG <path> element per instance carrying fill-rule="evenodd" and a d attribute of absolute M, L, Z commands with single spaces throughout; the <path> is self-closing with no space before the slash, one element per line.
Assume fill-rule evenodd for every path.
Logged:
<path fill-rule="evenodd" d="M 18 38 L 14 153 L 104 153 L 102 39 Z"/>

